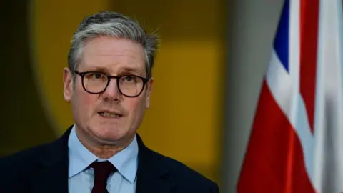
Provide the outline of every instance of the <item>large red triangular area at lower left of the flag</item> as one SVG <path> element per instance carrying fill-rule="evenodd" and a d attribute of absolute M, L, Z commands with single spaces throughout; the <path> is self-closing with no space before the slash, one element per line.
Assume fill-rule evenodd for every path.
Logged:
<path fill-rule="evenodd" d="M 264 81 L 238 193 L 312 193 L 297 134 Z"/>

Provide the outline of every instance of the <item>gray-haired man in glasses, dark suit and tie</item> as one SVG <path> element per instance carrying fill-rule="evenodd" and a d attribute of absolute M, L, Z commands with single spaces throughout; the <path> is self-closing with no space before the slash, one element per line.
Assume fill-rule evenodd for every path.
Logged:
<path fill-rule="evenodd" d="M 86 17 L 63 71 L 75 124 L 51 144 L 0 159 L 0 192 L 219 192 L 136 134 L 150 104 L 156 44 L 121 14 Z"/>

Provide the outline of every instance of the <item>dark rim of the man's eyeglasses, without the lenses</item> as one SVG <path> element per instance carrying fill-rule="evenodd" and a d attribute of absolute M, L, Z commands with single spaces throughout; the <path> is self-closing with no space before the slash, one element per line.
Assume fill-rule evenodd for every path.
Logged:
<path fill-rule="evenodd" d="M 82 87 L 84 88 L 84 91 L 88 92 L 89 94 L 101 94 L 101 93 L 104 93 L 104 91 L 106 91 L 106 89 L 107 89 L 107 86 L 109 86 L 109 82 L 111 81 L 111 79 L 116 79 L 116 86 L 118 87 L 118 90 L 119 90 L 119 92 L 121 94 L 123 94 L 125 97 L 138 97 L 143 92 L 146 82 L 149 81 L 149 79 L 146 79 L 146 78 L 141 77 L 141 76 L 136 76 L 134 74 L 125 74 L 125 75 L 121 75 L 121 76 L 111 76 L 111 75 L 105 74 L 104 72 L 101 72 L 101 71 L 83 71 L 83 72 L 80 72 L 80 71 L 74 70 L 74 72 L 76 74 L 78 74 L 79 76 L 81 76 Z M 107 84 L 106 84 L 106 86 L 104 87 L 104 89 L 102 91 L 98 91 L 98 92 L 87 91 L 86 86 L 84 86 L 84 76 L 86 76 L 86 74 L 89 74 L 89 73 L 103 74 L 104 76 L 107 77 Z M 119 79 L 121 79 L 124 76 L 134 76 L 134 77 L 137 77 L 137 78 L 139 78 L 139 79 L 141 79 L 143 81 L 143 86 L 141 86 L 141 91 L 139 91 L 139 94 L 131 96 L 131 95 L 126 95 L 126 94 L 124 94 L 121 91 L 120 86 L 119 86 Z"/>

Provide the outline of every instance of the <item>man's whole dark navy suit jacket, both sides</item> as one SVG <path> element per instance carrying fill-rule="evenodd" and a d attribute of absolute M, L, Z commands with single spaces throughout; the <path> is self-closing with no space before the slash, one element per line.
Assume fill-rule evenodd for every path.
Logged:
<path fill-rule="evenodd" d="M 68 138 L 0 159 L 0 192 L 68 192 Z M 217 193 L 217 184 L 184 164 L 139 145 L 136 193 Z"/>

